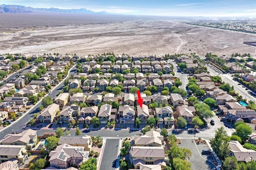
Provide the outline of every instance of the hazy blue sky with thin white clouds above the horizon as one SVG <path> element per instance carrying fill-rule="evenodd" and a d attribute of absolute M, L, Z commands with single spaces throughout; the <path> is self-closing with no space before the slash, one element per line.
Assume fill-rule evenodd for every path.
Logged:
<path fill-rule="evenodd" d="M 94 12 L 154 16 L 256 16 L 256 0 L 0 0 L 34 8 L 86 8 Z"/>

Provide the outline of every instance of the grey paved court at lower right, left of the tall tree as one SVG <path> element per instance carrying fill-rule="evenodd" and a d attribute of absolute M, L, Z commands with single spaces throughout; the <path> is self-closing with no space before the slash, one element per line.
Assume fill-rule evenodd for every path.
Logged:
<path fill-rule="evenodd" d="M 193 139 L 182 139 L 182 144 L 178 145 L 181 148 L 190 149 L 192 156 L 189 162 L 192 164 L 192 170 L 214 170 L 215 166 L 206 161 L 206 158 L 202 157 L 202 148 L 208 149 L 207 145 L 196 145 Z"/>

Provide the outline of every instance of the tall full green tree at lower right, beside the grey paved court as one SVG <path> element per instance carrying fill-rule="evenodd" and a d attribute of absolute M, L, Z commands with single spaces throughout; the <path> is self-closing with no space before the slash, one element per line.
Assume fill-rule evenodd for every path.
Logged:
<path fill-rule="evenodd" d="M 228 134 L 224 130 L 224 127 L 219 127 L 216 132 L 214 138 L 210 139 L 212 144 L 212 149 L 215 151 L 217 156 L 220 158 L 225 158 L 228 156 L 229 147 L 228 147 Z"/>

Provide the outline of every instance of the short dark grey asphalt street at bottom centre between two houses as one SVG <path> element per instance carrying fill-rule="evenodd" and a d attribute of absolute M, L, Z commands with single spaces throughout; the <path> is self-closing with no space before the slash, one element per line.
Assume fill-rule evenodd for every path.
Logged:
<path fill-rule="evenodd" d="M 118 145 L 120 139 L 107 139 L 102 160 L 100 163 L 100 170 L 115 170 L 116 158 L 118 153 Z M 118 167 L 117 167 L 118 168 Z"/>

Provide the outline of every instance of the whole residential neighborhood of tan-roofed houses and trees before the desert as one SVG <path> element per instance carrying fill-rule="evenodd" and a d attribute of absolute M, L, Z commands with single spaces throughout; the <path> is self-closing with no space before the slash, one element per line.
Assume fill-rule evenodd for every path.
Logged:
<path fill-rule="evenodd" d="M 6 78 L 0 86 L 3 166 L 16 162 L 21 165 L 16 169 L 38 168 L 32 157 L 40 155 L 45 161 L 42 168 L 79 169 L 95 159 L 95 166 L 102 169 L 105 145 L 113 138 L 103 137 L 108 130 L 131 132 L 112 139 L 118 141 L 114 150 L 121 170 L 169 170 L 180 162 L 194 169 L 194 151 L 185 145 L 186 140 L 195 144 L 200 151 L 196 154 L 211 162 L 209 169 L 220 169 L 233 157 L 254 164 L 256 100 L 250 84 L 254 79 L 245 65 L 236 63 L 249 57 L 232 62 L 232 57 L 221 56 L 226 64 L 219 64 L 211 54 L 204 59 L 195 54 L 15 56 L 20 59 L 14 62 L 15 57 L 1 55 L 3 66 L 24 61 L 28 68 L 17 70 L 15 78 L 2 77 Z M 234 85 L 230 80 L 240 83 Z M 245 98 L 237 87 L 246 93 Z M 21 120 L 26 122 L 22 132 L 5 130 Z M 239 133 L 246 127 L 250 129 L 246 134 Z M 224 128 L 230 131 L 224 133 Z M 202 139 L 201 133 L 207 131 L 212 136 Z M 214 138 L 219 131 L 224 137 Z M 179 138 L 183 132 L 191 134 Z M 225 154 L 217 149 L 218 140 L 224 140 Z M 187 156 L 177 156 L 175 149 Z M 205 161 L 202 164 L 206 167 Z"/>

